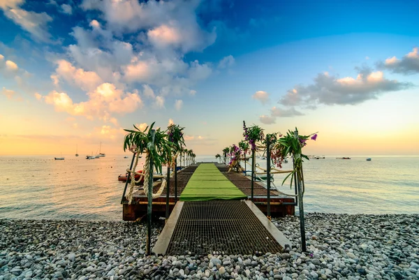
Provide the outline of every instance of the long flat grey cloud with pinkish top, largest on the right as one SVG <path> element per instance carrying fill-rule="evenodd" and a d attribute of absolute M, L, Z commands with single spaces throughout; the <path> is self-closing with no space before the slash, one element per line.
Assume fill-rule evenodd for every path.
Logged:
<path fill-rule="evenodd" d="M 359 104 L 375 99 L 389 91 L 408 89 L 413 84 L 384 78 L 381 71 L 372 72 L 370 68 L 357 68 L 356 78 L 338 78 L 329 73 L 320 73 L 314 84 L 297 85 L 287 91 L 279 103 L 286 106 L 298 105 L 345 105 Z"/>

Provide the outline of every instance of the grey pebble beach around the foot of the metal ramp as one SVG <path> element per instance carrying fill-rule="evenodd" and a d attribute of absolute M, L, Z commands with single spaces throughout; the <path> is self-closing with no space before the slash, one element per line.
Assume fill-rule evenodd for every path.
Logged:
<path fill-rule="evenodd" d="M 419 215 L 272 219 L 293 243 L 264 255 L 145 256 L 144 222 L 0 220 L 2 279 L 419 279 Z M 153 223 L 152 246 L 164 223 Z"/>

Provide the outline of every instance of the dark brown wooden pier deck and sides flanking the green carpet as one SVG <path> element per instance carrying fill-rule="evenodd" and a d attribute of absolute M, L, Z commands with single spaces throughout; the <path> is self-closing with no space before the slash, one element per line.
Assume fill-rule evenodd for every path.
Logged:
<path fill-rule="evenodd" d="M 166 202 L 167 202 L 167 191 L 169 190 L 169 214 L 172 212 L 177 198 L 184 190 L 186 184 L 189 182 L 193 172 L 196 170 L 200 163 L 195 163 L 187 166 L 186 168 L 179 170 L 175 176 L 170 178 L 168 187 L 163 191 L 159 198 L 155 198 L 152 201 L 152 214 L 154 216 L 167 216 Z M 247 200 L 251 200 L 253 195 L 253 203 L 263 212 L 265 215 L 268 212 L 268 199 L 270 206 L 270 216 L 279 217 L 286 215 L 295 214 L 295 198 L 289 196 L 281 196 L 275 190 L 270 190 L 269 196 L 267 189 L 260 185 L 258 182 L 254 182 L 253 188 L 251 188 L 251 177 L 245 177 L 241 172 L 228 171 L 228 168 L 223 163 L 214 162 L 217 168 L 230 180 L 240 191 L 247 195 Z M 177 184 L 175 186 L 175 177 L 177 177 Z M 161 185 L 161 182 L 154 182 L 153 189 L 156 192 Z M 175 190 L 177 193 L 175 193 Z M 122 219 L 124 221 L 135 221 L 141 219 L 147 214 L 147 195 L 141 190 L 137 190 L 133 193 L 133 201 L 129 205 L 128 201 L 122 198 Z"/>

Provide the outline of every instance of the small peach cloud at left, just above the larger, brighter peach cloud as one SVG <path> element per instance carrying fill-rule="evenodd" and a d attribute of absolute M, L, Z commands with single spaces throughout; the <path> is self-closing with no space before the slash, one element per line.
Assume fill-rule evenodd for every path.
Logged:
<path fill-rule="evenodd" d="M 57 69 L 56 75 L 51 78 L 54 84 L 58 84 L 58 79 L 62 78 L 70 84 L 75 84 L 84 91 L 95 89 L 99 84 L 102 84 L 102 79 L 93 71 L 84 71 L 82 68 L 75 68 L 70 62 L 60 59 L 55 62 Z"/>

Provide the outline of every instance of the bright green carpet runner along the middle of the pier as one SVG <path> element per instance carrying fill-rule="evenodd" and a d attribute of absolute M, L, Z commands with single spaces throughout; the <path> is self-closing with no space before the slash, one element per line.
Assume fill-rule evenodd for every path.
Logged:
<path fill-rule="evenodd" d="M 241 200 L 247 196 L 224 176 L 214 163 L 201 163 L 182 194 L 181 201 Z"/>

